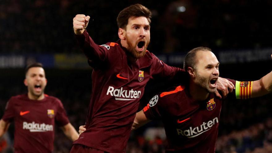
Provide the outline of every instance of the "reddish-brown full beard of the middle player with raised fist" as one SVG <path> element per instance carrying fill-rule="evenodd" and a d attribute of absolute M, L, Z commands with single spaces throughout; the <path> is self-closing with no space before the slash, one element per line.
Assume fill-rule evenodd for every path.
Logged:
<path fill-rule="evenodd" d="M 141 52 L 138 52 L 137 49 L 136 49 L 136 47 L 137 47 L 139 41 L 135 45 L 132 45 L 132 41 L 130 41 L 130 39 L 128 39 L 127 37 L 125 37 L 125 38 L 127 40 L 127 45 L 128 45 L 127 46 L 127 50 L 129 51 L 129 53 L 133 57 L 135 57 L 135 58 L 138 59 L 138 58 L 143 57 L 146 54 L 147 46 L 150 43 L 150 40 L 147 43 L 145 43 L 144 49 Z"/>

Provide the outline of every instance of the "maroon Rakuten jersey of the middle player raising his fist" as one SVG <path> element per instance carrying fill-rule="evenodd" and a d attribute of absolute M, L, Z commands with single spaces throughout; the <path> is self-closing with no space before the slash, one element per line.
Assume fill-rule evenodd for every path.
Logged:
<path fill-rule="evenodd" d="M 94 68 L 86 131 L 74 144 L 83 144 L 110 153 L 125 152 L 131 126 L 150 78 L 171 79 L 182 69 L 160 61 L 149 51 L 128 64 L 127 50 L 116 43 L 96 45 L 86 32 L 76 36 Z"/>

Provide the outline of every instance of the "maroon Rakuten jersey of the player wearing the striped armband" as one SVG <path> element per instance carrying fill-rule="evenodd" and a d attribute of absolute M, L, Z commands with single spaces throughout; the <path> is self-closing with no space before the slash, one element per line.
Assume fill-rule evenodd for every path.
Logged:
<path fill-rule="evenodd" d="M 230 81 L 235 85 L 234 80 Z M 185 86 L 178 86 L 156 95 L 143 109 L 144 114 L 148 119 L 163 121 L 166 152 L 214 153 L 222 99 L 211 93 L 206 100 L 197 101 L 188 92 Z M 235 92 L 227 99 L 232 97 Z"/>

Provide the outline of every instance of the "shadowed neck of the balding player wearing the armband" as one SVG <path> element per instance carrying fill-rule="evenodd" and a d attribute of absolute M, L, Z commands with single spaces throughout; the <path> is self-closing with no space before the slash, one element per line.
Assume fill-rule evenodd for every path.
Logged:
<path fill-rule="evenodd" d="M 189 92 L 195 100 L 206 100 L 209 96 L 209 92 L 194 83 L 191 79 L 189 83 Z"/>

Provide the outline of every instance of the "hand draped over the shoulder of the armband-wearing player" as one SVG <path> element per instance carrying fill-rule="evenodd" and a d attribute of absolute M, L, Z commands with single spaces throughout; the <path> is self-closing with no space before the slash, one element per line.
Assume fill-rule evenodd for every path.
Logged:
<path fill-rule="evenodd" d="M 221 99 L 222 96 L 218 91 L 221 91 L 223 98 L 225 98 L 229 92 L 232 92 L 232 90 L 235 89 L 235 86 L 229 80 L 219 77 L 216 88 L 217 90 L 215 91 L 215 95 Z"/>

